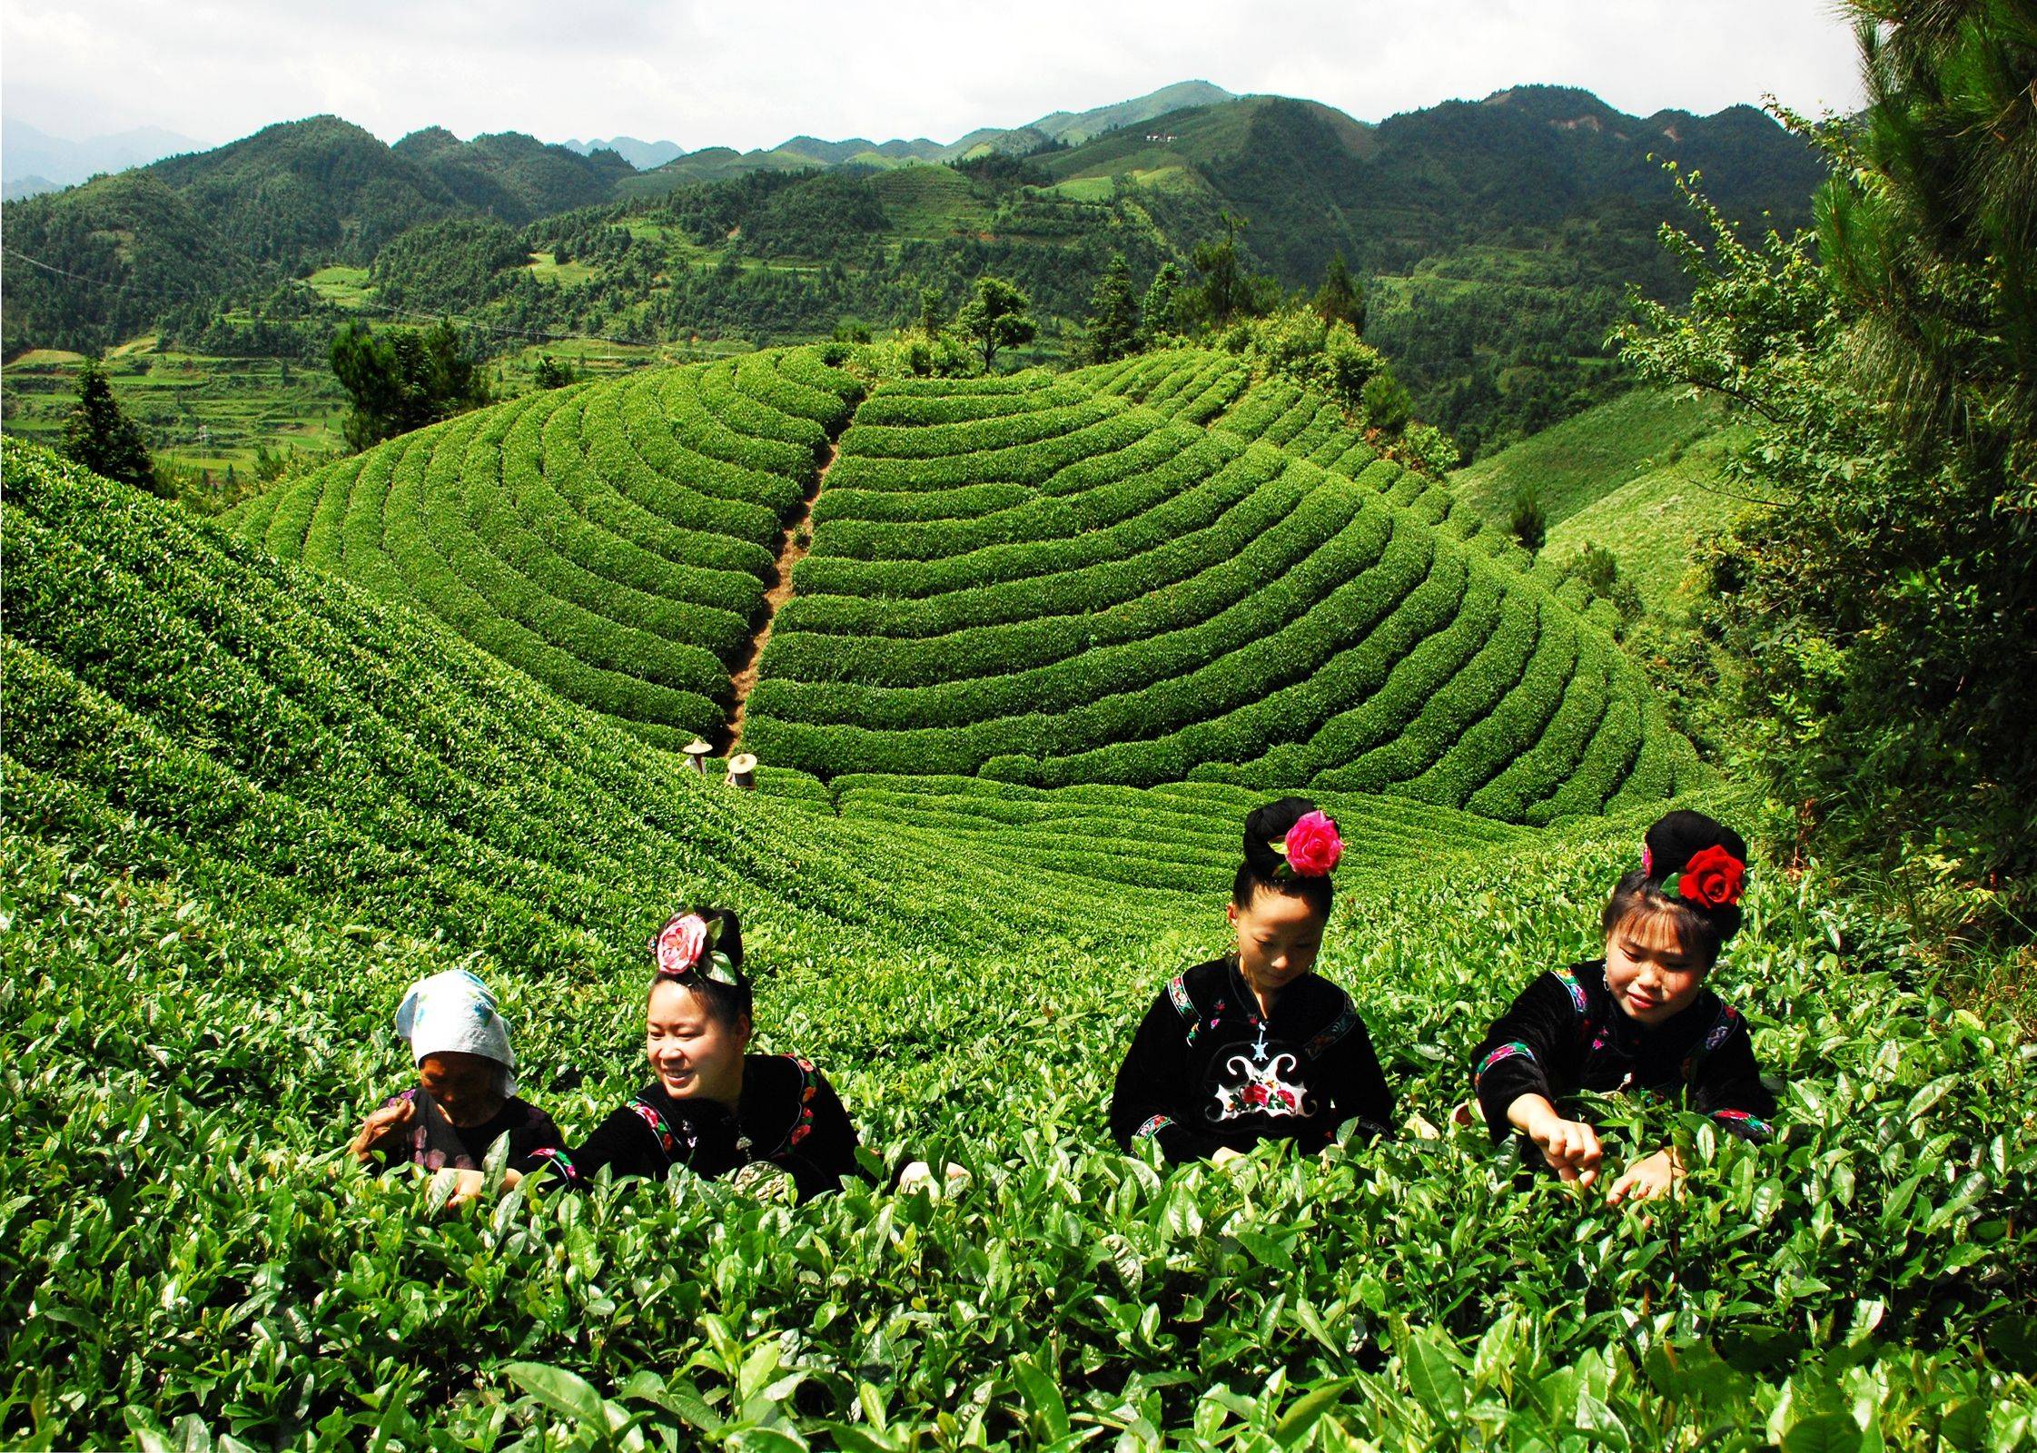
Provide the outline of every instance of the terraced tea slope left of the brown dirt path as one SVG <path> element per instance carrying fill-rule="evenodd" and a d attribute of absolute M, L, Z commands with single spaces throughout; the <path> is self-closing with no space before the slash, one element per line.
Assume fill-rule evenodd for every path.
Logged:
<path fill-rule="evenodd" d="M 784 522 L 860 395 L 811 348 L 534 393 L 289 481 L 230 524 L 678 746 L 723 723 Z"/>

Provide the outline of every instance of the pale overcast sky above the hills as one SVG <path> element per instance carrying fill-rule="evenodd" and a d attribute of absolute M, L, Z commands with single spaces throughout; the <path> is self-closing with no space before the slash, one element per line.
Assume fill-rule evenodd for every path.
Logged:
<path fill-rule="evenodd" d="M 395 141 L 1016 126 L 1210 79 L 1379 120 L 1505 86 L 1583 86 L 1626 112 L 1772 92 L 1858 106 L 1829 0 L 6 0 L 0 108 L 81 139 L 202 143 L 336 112 Z"/>

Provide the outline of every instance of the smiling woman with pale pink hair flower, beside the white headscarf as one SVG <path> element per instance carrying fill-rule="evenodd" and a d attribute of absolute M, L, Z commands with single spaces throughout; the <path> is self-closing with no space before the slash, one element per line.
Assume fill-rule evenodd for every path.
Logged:
<path fill-rule="evenodd" d="M 601 1170 L 664 1180 L 684 1168 L 799 1200 L 856 1176 L 856 1127 L 827 1078 L 792 1054 L 748 1054 L 752 992 L 735 913 L 676 913 L 650 956 L 652 1082 L 579 1145 L 513 1158 L 509 1176 L 550 1170 L 585 1186 Z"/>

